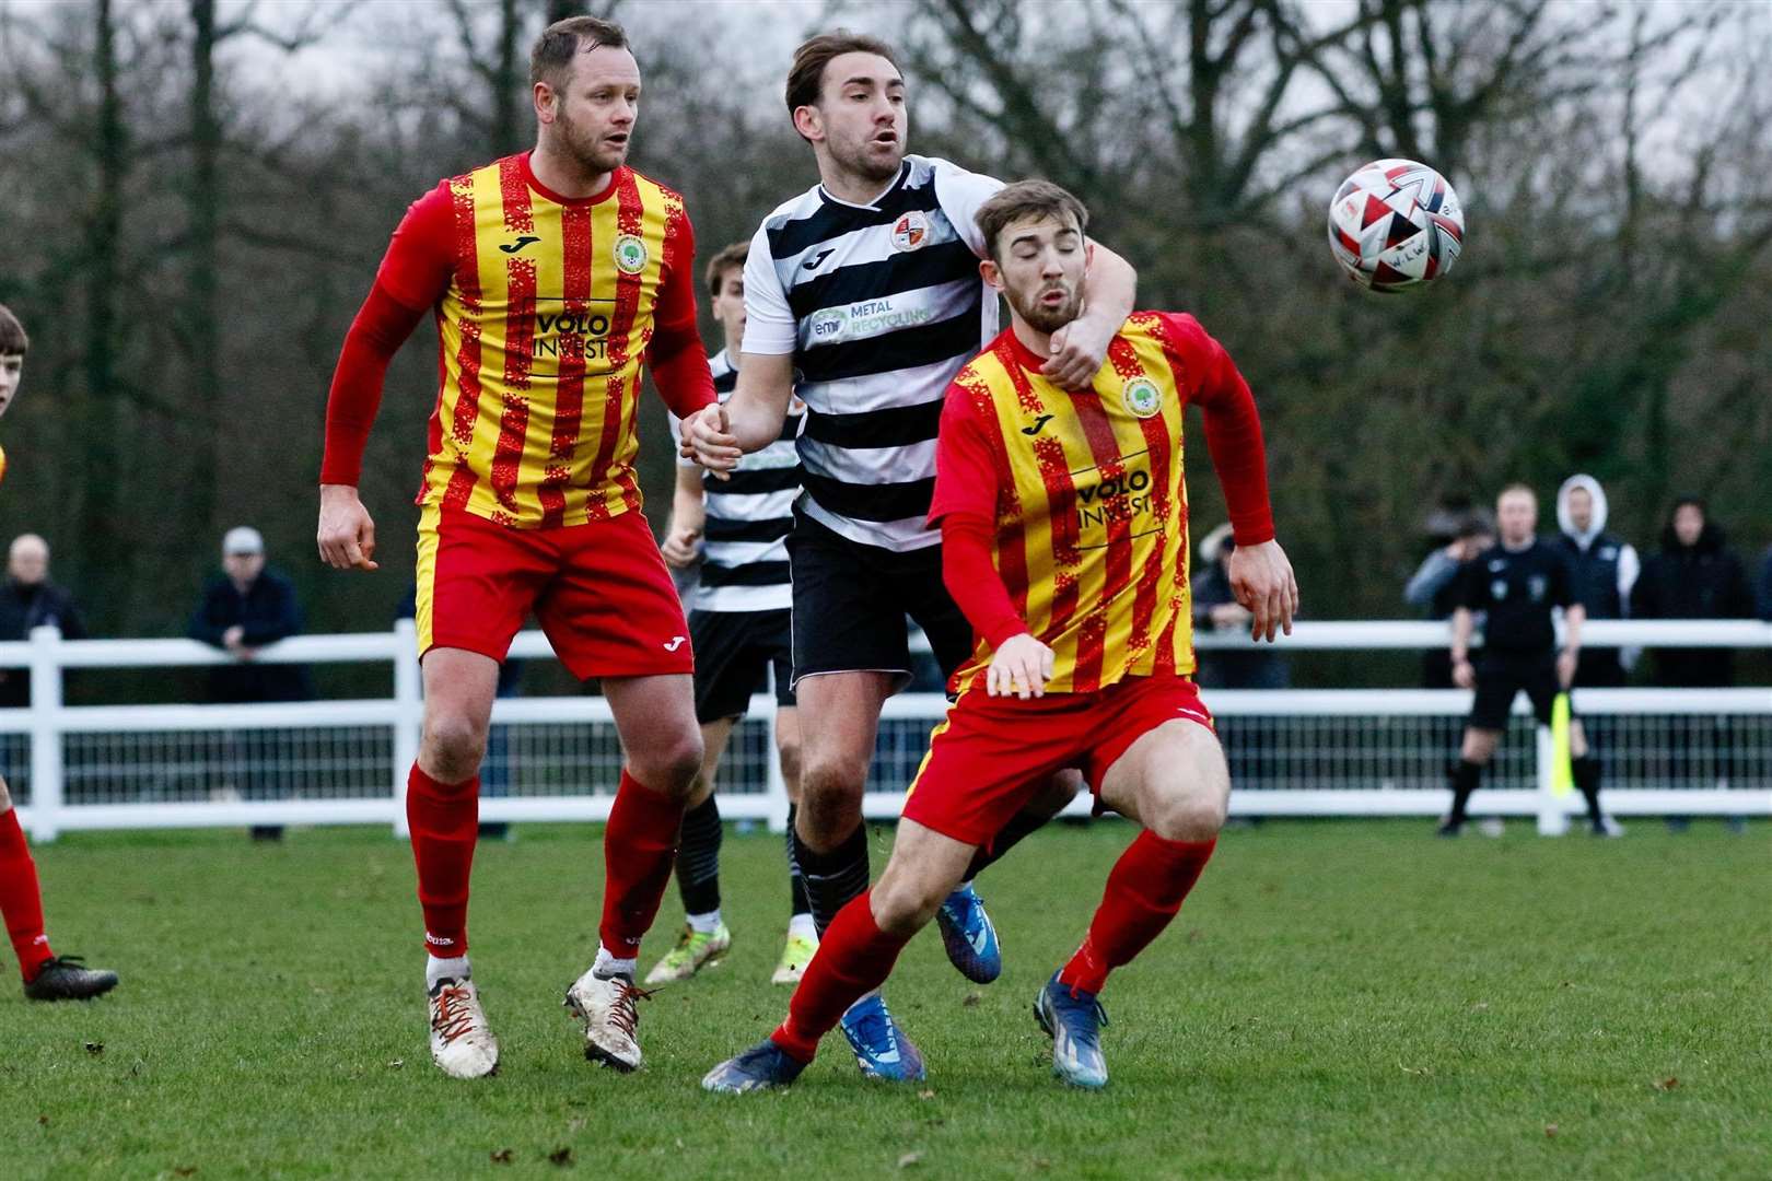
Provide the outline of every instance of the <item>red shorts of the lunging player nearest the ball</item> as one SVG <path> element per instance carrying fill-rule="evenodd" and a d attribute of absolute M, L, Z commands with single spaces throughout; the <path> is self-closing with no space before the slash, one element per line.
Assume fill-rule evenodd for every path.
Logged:
<path fill-rule="evenodd" d="M 904 802 L 905 820 L 968 845 L 989 845 L 1010 816 L 1076 767 L 1100 795 L 1108 768 L 1164 722 L 1212 729 L 1185 676 L 1127 676 L 1099 692 L 991 698 L 969 689 L 936 726 Z"/>

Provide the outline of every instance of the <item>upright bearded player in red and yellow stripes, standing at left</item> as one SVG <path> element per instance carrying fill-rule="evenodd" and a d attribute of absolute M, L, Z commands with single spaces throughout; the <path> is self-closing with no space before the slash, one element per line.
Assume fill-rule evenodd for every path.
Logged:
<path fill-rule="evenodd" d="M 572 18 L 530 55 L 535 151 L 413 204 L 338 358 L 321 556 L 374 570 L 356 494 L 388 359 L 438 324 L 418 503 L 425 726 L 406 814 L 425 917 L 431 1052 L 489 1075 L 498 1041 L 468 965 L 468 875 L 498 664 L 533 611 L 560 660 L 602 678 L 627 765 L 606 830 L 597 961 L 569 990 L 585 1054 L 633 1069 L 634 958 L 670 878 L 702 760 L 689 629 L 640 512 L 641 368 L 679 416 L 714 400 L 682 198 L 626 165 L 640 67 L 618 25 Z"/>

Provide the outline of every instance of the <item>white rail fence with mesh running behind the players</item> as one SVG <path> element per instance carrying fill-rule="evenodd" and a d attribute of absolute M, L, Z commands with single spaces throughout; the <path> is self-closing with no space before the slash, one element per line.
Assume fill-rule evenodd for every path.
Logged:
<path fill-rule="evenodd" d="M 1442 646 L 1441 623 L 1299 623 L 1276 652 Z M 1772 648 L 1756 621 L 1595 621 L 1588 646 Z M 1200 648 L 1244 648 L 1200 636 Z M 551 657 L 525 632 L 514 657 Z M 284 664 L 392 666 L 393 692 L 365 701 L 69 706 L 64 675 L 188 668 L 232 657 L 188 639 L 62 641 L 39 629 L 0 643 L 0 669 L 30 671 L 30 706 L 0 710 L 0 770 L 39 841 L 71 829 L 386 823 L 404 836 L 406 772 L 424 712 L 411 621 L 392 632 L 305 636 L 259 653 Z M 1414 689 L 1210 691 L 1242 816 L 1435 816 L 1446 806 L 1471 694 Z M 1535 816 L 1561 832 L 1581 811 L 1552 791 L 1550 742 L 1526 703 L 1473 800 L 1478 814 Z M 1772 813 L 1772 689 L 1579 691 L 1575 706 L 1605 763 L 1618 814 Z M 946 701 L 886 705 L 865 809 L 898 813 Z M 482 820 L 604 820 L 620 768 L 608 705 L 595 696 L 500 699 L 482 770 Z M 721 768 L 721 813 L 780 829 L 787 795 L 773 758 L 773 701 L 757 698 Z M 1074 804 L 1086 811 L 1086 800 Z"/>

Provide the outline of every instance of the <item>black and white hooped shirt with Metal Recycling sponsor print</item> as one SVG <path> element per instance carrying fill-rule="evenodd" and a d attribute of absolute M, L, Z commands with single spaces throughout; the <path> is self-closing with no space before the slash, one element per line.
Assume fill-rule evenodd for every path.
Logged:
<path fill-rule="evenodd" d="M 905 156 L 874 202 L 815 186 L 751 239 L 744 351 L 794 354 L 806 402 L 801 508 L 852 542 L 909 551 L 941 540 L 925 524 L 936 430 L 948 382 L 998 333 L 975 214 L 999 188 Z"/>

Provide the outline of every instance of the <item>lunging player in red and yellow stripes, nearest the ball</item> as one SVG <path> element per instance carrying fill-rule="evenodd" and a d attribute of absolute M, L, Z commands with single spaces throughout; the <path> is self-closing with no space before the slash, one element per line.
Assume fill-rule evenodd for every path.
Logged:
<path fill-rule="evenodd" d="M 1115 864 L 1083 946 L 1035 1013 L 1053 1068 L 1100 1087 L 1097 993 L 1193 889 L 1230 799 L 1212 715 L 1193 680 L 1182 411 L 1205 411 L 1237 552 L 1232 586 L 1255 634 L 1292 629 L 1297 583 L 1274 542 L 1262 425 L 1224 349 L 1187 315 L 1134 313 L 1095 375 L 1067 393 L 1040 367 L 1076 319 L 1088 266 L 1086 211 L 1044 181 L 1006 186 L 978 211 L 985 280 L 1012 324 L 948 388 L 930 521 L 943 579 L 978 648 L 930 738 L 879 884 L 843 907 L 760 1046 L 703 1085 L 785 1085 L 842 1013 L 891 972 L 904 944 L 960 882 L 973 853 L 1063 767 L 1145 830 Z"/>

